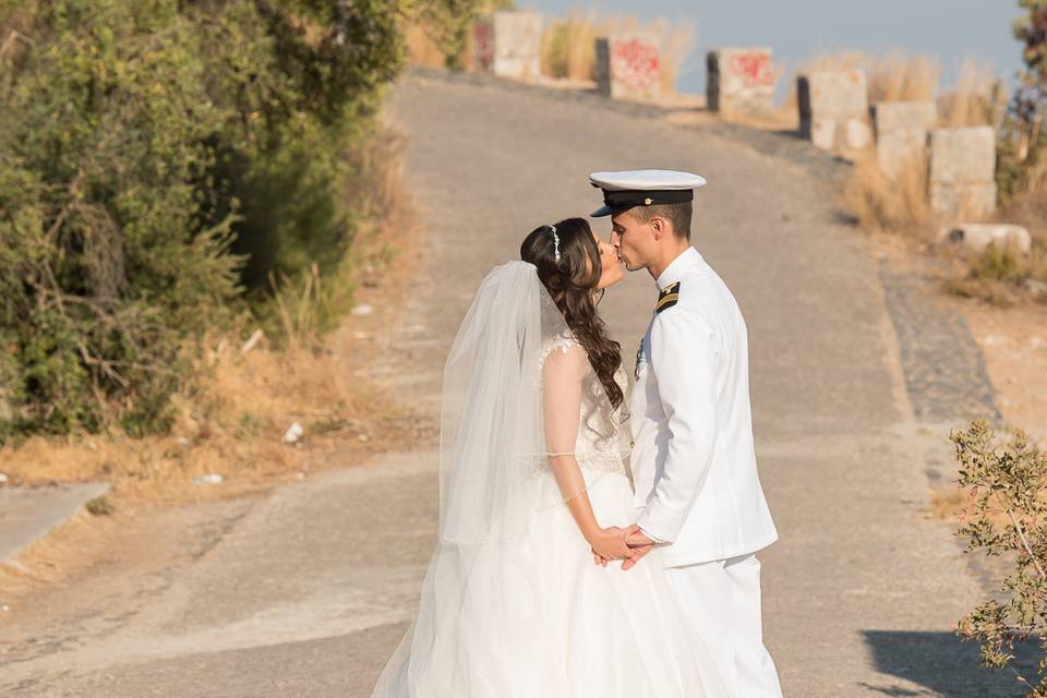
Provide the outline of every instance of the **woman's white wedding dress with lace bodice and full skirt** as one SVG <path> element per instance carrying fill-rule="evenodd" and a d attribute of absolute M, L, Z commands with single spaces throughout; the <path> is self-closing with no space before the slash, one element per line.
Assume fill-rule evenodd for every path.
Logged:
<path fill-rule="evenodd" d="M 624 432 L 621 412 L 611 409 L 585 351 L 570 333 L 564 327 L 550 332 L 554 326 L 547 316 L 551 301 L 546 302 L 543 291 L 539 294 L 544 332 L 533 346 L 539 357 L 537 370 L 519 376 L 534 383 L 533 405 L 527 406 L 527 398 L 510 399 L 470 412 L 470 401 L 490 397 L 485 389 L 473 389 L 467 408 L 454 421 L 458 441 L 450 459 L 459 469 L 476 462 L 464 460 L 468 448 L 460 434 L 464 429 L 474 432 L 478 419 L 508 409 L 510 413 L 500 419 L 515 426 L 527 422 L 531 407 L 540 412 L 538 426 L 545 453 L 530 454 L 518 478 L 506 476 L 515 472 L 513 467 L 505 471 L 474 468 L 467 479 L 459 476 L 457 484 L 454 474 L 442 473 L 441 541 L 423 582 L 419 615 L 373 696 L 724 698 L 727 693 L 674 597 L 659 552 L 651 552 L 627 571 L 619 562 L 597 566 L 564 505 L 546 455 L 574 454 L 600 526 L 625 527 L 636 519 L 619 447 Z M 469 320 L 467 316 L 459 338 Z M 495 328 L 484 325 L 479 329 L 483 332 L 476 336 L 490 341 Z M 473 387 L 483 381 L 478 371 L 491 372 L 490 360 L 484 359 L 483 366 L 469 363 Z M 498 371 L 502 376 L 504 368 Z M 619 369 L 616 377 L 624 388 L 624 371 Z M 449 371 L 445 370 L 445 388 L 448 381 Z M 526 386 L 521 392 L 527 393 Z M 525 407 L 519 408 L 521 401 Z M 444 428 L 448 429 L 446 421 Z M 480 432 L 486 436 L 489 429 Z M 492 447 L 490 437 L 477 441 L 489 457 L 504 446 L 496 440 Z M 512 459 L 510 453 L 501 453 L 502 458 Z M 490 481 L 492 470 L 497 472 L 496 486 Z M 512 486 L 506 486 L 507 478 Z M 484 481 L 479 490 L 478 480 Z M 468 492 L 459 492 L 462 498 L 456 500 L 453 491 L 465 483 Z M 497 505 L 485 509 L 488 500 L 480 497 L 492 493 Z M 467 513 L 447 516 L 446 509 L 453 508 Z"/>

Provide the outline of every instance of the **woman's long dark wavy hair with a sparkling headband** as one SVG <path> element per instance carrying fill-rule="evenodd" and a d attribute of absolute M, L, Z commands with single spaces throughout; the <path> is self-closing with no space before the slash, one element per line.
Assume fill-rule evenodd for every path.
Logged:
<path fill-rule="evenodd" d="M 611 405 L 618 407 L 624 396 L 614 373 L 622 365 L 622 346 L 607 337 L 597 312 L 597 284 L 603 273 L 600 248 L 585 218 L 561 220 L 556 224 L 556 236 L 559 262 L 551 226 L 535 228 L 524 239 L 520 258 L 538 268 L 538 278 L 563 313 L 575 339 L 589 354 L 589 363 Z"/>

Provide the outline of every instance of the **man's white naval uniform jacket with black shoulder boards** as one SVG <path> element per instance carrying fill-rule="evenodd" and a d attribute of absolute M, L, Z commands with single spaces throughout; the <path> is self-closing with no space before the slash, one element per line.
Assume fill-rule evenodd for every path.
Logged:
<path fill-rule="evenodd" d="M 756 469 L 745 320 L 694 248 L 658 288 L 630 398 L 637 522 L 672 543 L 666 567 L 755 553 L 778 532 Z"/>

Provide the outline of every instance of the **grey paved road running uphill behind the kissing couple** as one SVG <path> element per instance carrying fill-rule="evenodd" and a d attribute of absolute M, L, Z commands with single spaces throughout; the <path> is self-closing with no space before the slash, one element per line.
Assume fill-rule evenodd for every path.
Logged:
<path fill-rule="evenodd" d="M 478 282 L 535 225 L 594 207 L 590 170 L 701 172 L 695 243 L 749 325 L 760 471 L 782 534 L 761 555 L 767 641 L 786 696 L 1014 695 L 950 634 L 983 590 L 949 527 L 924 513 L 928 464 L 948 467 L 941 435 L 965 413 L 922 421 L 941 412 L 914 414 L 906 376 L 949 359 L 900 346 L 895 327 L 919 314 L 892 317 L 877 260 L 837 210 L 838 164 L 787 136 L 683 129 L 482 80 L 416 75 L 392 107 L 411 136 L 425 237 L 372 369 L 434 405 Z M 654 296 L 635 274 L 604 301 L 626 357 Z M 964 375 L 978 370 L 967 359 L 935 380 L 982 381 Z M 264 500 L 165 514 L 134 544 L 164 531 L 170 554 L 118 561 L 0 626 L 0 694 L 369 695 L 433 544 L 433 460 L 390 456 Z"/>

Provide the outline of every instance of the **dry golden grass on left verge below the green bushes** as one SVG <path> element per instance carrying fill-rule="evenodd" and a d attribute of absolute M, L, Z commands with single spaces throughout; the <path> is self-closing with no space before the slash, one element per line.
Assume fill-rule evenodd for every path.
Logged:
<path fill-rule="evenodd" d="M 395 294 L 398 276 L 408 270 L 393 268 L 399 264 L 396 245 L 410 244 L 414 229 L 400 179 L 402 145 L 402 135 L 387 128 L 357 154 L 369 178 L 365 195 L 352 201 L 369 222 L 358 232 L 342 276 L 324 280 L 314 267 L 297 285 L 278 285 L 278 336 L 261 335 L 244 318 L 241 326 L 207 338 L 202 350 L 186 348 L 198 377 L 174 396 L 177 419 L 169 435 L 81 434 L 9 444 L 0 449 L 0 471 L 11 484 L 105 480 L 118 503 L 201 501 L 301 477 L 329 460 L 325 456 L 332 449 L 345 461 L 426 443 L 432 436 L 428 416 L 412 414 L 378 386 L 356 377 L 366 365 L 365 347 L 339 346 L 335 352 L 330 338 L 320 337 L 324 304 L 330 302 L 324 284 L 336 289 L 359 284 L 364 294 Z M 304 436 L 288 445 L 282 437 L 292 422 L 301 424 Z M 220 474 L 224 481 L 193 482 L 204 474 Z"/>

